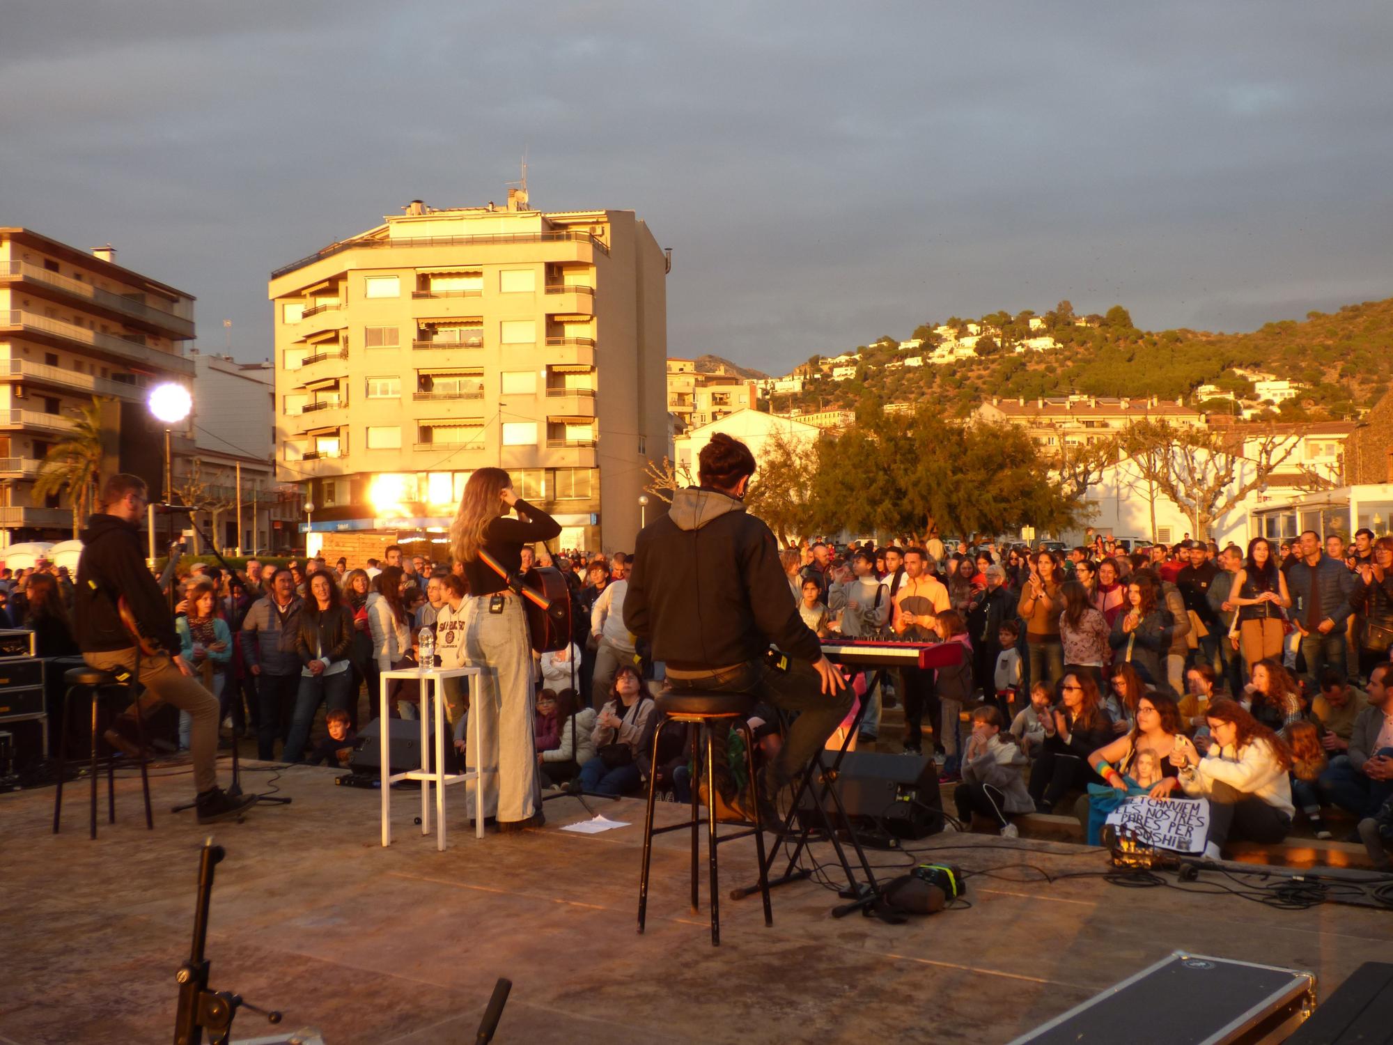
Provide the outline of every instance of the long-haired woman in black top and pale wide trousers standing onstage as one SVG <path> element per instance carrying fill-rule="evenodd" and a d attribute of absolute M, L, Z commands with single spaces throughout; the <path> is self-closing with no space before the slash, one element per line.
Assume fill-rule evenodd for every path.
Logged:
<path fill-rule="evenodd" d="M 508 517 L 517 509 L 518 518 Z M 481 669 L 471 687 L 465 762 L 479 768 L 482 803 L 474 814 L 496 816 L 499 830 L 543 823 L 536 750 L 532 740 L 532 647 L 522 601 L 489 566 L 510 577 L 522 566 L 522 545 L 559 536 L 561 527 L 513 492 L 501 468 L 479 468 L 464 486 L 450 527 L 451 548 L 464 566 L 469 598 L 464 601 L 464 660 Z M 482 808 L 481 808 L 482 807 Z"/>

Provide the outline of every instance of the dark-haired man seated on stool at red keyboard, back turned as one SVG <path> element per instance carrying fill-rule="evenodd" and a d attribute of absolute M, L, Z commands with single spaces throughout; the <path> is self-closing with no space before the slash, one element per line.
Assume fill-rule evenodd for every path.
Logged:
<path fill-rule="evenodd" d="M 775 829 L 775 798 L 846 718 L 851 692 L 788 598 L 775 535 L 745 513 L 754 472 L 749 447 L 723 432 L 702 449 L 701 485 L 677 490 L 638 535 L 624 623 L 649 641 L 676 694 L 741 692 L 798 713 L 756 789 L 763 826 Z M 787 656 L 770 658 L 770 644 Z M 715 759 L 716 787 L 734 803 L 719 729 Z"/>

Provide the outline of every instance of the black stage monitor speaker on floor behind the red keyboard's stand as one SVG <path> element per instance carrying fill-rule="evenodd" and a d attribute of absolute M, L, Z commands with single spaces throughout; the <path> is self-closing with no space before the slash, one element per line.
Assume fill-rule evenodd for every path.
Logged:
<path fill-rule="evenodd" d="M 823 755 L 830 759 L 830 752 Z M 848 751 L 839 775 L 841 804 L 858 828 L 897 839 L 922 839 L 943 830 L 939 768 L 926 755 Z M 826 800 L 836 822 L 837 808 Z"/>

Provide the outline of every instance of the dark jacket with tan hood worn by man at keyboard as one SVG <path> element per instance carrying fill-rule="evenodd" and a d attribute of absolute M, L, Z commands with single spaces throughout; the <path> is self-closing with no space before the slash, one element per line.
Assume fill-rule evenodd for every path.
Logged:
<path fill-rule="evenodd" d="M 800 660 L 822 658 L 788 598 L 769 527 L 703 486 L 677 490 L 638 535 L 624 624 L 652 644 L 655 660 L 685 670 L 756 660 L 770 642 Z"/>

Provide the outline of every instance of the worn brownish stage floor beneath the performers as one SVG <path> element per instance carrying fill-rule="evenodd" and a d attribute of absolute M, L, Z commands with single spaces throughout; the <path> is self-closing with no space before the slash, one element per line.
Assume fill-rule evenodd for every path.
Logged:
<path fill-rule="evenodd" d="M 270 773 L 247 773 L 265 790 Z M 593 803 L 631 826 L 582 836 L 573 798 L 546 804 L 545 828 L 475 840 L 462 794 L 450 849 L 437 853 L 393 796 L 396 842 L 379 844 L 372 790 L 334 786 L 329 769 L 276 780 L 290 807 L 219 825 L 208 957 L 212 986 L 315 1027 L 329 1045 L 472 1042 L 493 982 L 513 980 L 499 1042 L 972 1042 L 1038 1025 L 1172 950 L 1311 970 L 1328 996 L 1358 964 L 1387 960 L 1393 913 L 1326 904 L 1279 911 L 1231 896 L 1120 889 L 1099 850 L 943 835 L 974 878 L 970 908 L 887 925 L 833 920 L 836 896 L 812 882 L 722 901 L 713 949 L 705 907 L 687 903 L 687 836 L 659 839 L 648 932 L 635 934 L 642 803 Z M 208 836 L 169 807 L 187 775 L 155 782 L 155 830 L 139 780 L 120 782 L 118 822 L 86 837 L 78 786 L 64 832 L 49 833 L 53 790 L 0 796 L 0 1042 L 170 1041 L 174 971 L 187 957 L 198 850 Z M 660 805 L 664 822 L 684 810 Z M 882 865 L 903 854 L 876 854 Z M 722 846 L 722 890 L 752 878 L 752 840 Z M 705 864 L 702 865 L 705 872 Z M 886 871 L 886 875 L 897 874 Z M 234 1039 L 269 1034 L 244 1012 Z M 1144 1041 L 1138 1027 L 1119 1041 Z"/>

